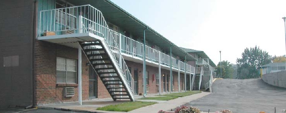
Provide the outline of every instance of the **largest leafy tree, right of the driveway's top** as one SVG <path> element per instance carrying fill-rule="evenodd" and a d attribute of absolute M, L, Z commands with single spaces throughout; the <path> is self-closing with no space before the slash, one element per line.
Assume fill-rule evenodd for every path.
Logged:
<path fill-rule="evenodd" d="M 241 54 L 242 58 L 237 58 L 237 73 L 239 79 L 259 78 L 258 68 L 271 62 L 268 52 L 259 47 L 245 48 Z"/>

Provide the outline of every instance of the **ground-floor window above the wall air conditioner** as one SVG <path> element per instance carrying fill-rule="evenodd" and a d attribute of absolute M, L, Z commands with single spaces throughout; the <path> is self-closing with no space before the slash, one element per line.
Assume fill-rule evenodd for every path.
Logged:
<path fill-rule="evenodd" d="M 56 82 L 76 83 L 76 60 L 56 57 Z"/>

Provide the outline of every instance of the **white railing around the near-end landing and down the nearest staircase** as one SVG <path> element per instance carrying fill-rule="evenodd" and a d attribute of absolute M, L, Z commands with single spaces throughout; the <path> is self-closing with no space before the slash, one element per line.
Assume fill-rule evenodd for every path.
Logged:
<path fill-rule="evenodd" d="M 91 5 L 74 6 L 68 8 L 59 8 L 40 11 L 39 36 L 47 32 L 54 32 L 55 35 L 69 33 L 93 33 L 103 37 L 108 47 L 112 50 L 112 55 L 121 71 L 124 74 L 125 81 L 133 92 L 134 80 L 129 69 L 118 49 L 118 36 L 114 35 L 102 13 Z"/>

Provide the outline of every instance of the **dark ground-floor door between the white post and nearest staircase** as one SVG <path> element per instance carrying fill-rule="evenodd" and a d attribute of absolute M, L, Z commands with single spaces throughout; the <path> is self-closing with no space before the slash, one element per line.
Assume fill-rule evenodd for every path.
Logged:
<path fill-rule="evenodd" d="M 97 74 L 89 65 L 89 98 L 97 98 Z"/>

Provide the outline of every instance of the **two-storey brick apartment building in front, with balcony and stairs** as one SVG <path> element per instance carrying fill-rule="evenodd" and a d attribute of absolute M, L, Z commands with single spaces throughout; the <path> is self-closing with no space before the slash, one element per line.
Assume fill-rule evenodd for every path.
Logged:
<path fill-rule="evenodd" d="M 0 10 L 0 108 L 194 87 L 197 59 L 109 0 L 4 0 Z"/>

